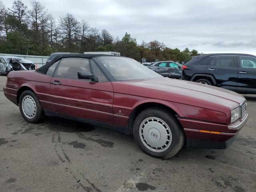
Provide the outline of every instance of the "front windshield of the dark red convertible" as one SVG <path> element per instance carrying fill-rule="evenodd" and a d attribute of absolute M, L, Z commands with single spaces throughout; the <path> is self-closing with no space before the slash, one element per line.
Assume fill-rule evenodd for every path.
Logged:
<path fill-rule="evenodd" d="M 136 60 L 126 57 L 102 56 L 95 58 L 117 81 L 161 78 L 162 76 L 143 66 Z"/>

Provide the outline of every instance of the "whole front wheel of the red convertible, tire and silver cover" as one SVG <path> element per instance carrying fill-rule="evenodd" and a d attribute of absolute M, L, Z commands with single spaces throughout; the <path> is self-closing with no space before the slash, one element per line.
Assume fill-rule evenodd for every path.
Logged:
<path fill-rule="evenodd" d="M 182 127 L 164 108 L 142 111 L 134 121 L 133 134 L 142 151 L 157 158 L 171 158 L 184 144 Z"/>

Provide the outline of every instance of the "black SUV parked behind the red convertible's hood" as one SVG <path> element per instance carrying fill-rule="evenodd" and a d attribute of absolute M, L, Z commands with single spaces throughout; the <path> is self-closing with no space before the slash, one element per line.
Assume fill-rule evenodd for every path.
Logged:
<path fill-rule="evenodd" d="M 182 66 L 183 80 L 209 84 L 243 94 L 256 94 L 256 56 L 206 54 Z"/>

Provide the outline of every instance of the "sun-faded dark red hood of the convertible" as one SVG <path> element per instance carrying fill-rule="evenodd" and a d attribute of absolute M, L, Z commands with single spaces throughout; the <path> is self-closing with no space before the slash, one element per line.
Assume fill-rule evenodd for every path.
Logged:
<path fill-rule="evenodd" d="M 194 106 L 201 106 L 202 103 L 200 102 L 201 104 L 198 105 L 196 101 L 203 100 L 208 103 L 212 102 L 226 106 L 232 110 L 245 100 L 242 95 L 236 92 L 185 80 L 157 78 L 151 80 L 125 81 L 124 83 L 159 90 L 158 96 L 156 95 L 156 98 L 159 99 L 163 99 L 160 98 L 161 92 L 171 92 L 175 98 L 179 98 L 178 100 L 173 100 L 174 97 L 170 97 L 169 99 L 165 98 L 165 100 L 174 102 L 185 103 L 185 101 L 182 101 L 183 99 L 190 100 L 192 97 L 195 101 Z"/>

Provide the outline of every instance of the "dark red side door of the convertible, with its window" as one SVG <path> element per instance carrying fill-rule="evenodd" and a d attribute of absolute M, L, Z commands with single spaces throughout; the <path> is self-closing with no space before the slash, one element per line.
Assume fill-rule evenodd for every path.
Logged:
<path fill-rule="evenodd" d="M 99 82 L 78 79 L 78 71 L 92 69 L 98 70 Z M 50 99 L 60 114 L 111 123 L 113 98 L 111 82 L 87 58 L 62 58 L 51 79 Z"/>

